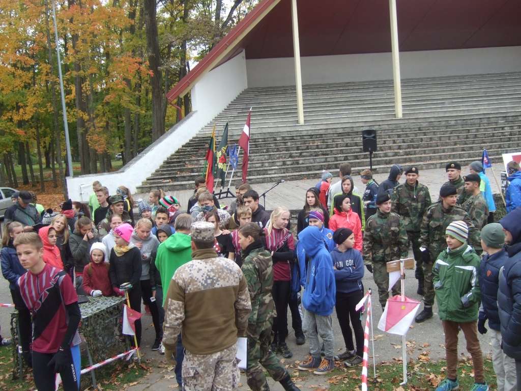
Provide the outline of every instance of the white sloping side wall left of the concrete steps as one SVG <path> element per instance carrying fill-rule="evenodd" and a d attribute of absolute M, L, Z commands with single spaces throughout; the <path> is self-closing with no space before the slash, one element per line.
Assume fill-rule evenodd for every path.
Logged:
<path fill-rule="evenodd" d="M 114 194 L 120 185 L 131 192 L 207 125 L 247 87 L 244 52 L 208 72 L 191 91 L 192 113 L 116 172 L 67 177 L 69 198 L 88 201 L 92 182 L 99 180 Z"/>

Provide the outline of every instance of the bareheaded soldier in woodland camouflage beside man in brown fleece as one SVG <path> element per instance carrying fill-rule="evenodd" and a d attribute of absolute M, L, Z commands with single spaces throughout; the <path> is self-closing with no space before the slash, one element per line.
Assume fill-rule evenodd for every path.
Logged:
<path fill-rule="evenodd" d="M 299 391 L 291 381 L 288 371 L 270 349 L 271 326 L 276 316 L 275 302 L 271 296 L 273 270 L 271 255 L 264 248 L 264 231 L 256 223 L 247 223 L 239 229 L 239 245 L 242 249 L 241 266 L 250 292 L 252 312 L 248 319 L 247 366 L 248 386 L 253 391 L 269 391 L 263 367 L 280 382 L 287 391 Z"/>

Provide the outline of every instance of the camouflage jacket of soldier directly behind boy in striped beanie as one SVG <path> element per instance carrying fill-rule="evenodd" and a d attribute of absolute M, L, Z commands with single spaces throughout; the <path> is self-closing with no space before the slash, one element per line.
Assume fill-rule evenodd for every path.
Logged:
<path fill-rule="evenodd" d="M 427 209 L 420 229 L 420 247 L 429 250 L 431 262 L 436 261 L 439 253 L 447 247 L 445 230 L 450 223 L 457 220 L 467 223 L 469 244 L 479 245 L 479 232 L 468 213 L 458 205 L 443 209 L 442 201 L 438 201 Z"/>

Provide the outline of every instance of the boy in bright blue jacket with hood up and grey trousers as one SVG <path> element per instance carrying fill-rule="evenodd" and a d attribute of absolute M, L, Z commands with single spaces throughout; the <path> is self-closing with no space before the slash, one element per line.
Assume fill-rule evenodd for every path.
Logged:
<path fill-rule="evenodd" d="M 299 369 L 314 370 L 316 375 L 324 375 L 334 369 L 334 334 L 331 313 L 335 304 L 336 286 L 334 283 L 333 261 L 322 234 L 317 227 L 309 226 L 299 234 L 299 243 L 305 252 L 307 272 L 306 289 L 302 297 L 304 312 L 303 328 L 309 341 L 310 356 L 302 361 Z M 321 344 L 324 342 L 325 357 L 320 360 Z"/>

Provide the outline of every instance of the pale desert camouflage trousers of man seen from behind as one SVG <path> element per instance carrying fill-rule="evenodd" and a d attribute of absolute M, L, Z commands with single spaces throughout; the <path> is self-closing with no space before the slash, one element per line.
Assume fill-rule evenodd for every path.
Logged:
<path fill-rule="evenodd" d="M 241 374 L 237 366 L 237 345 L 211 355 L 184 352 L 183 391 L 233 391 Z"/>

